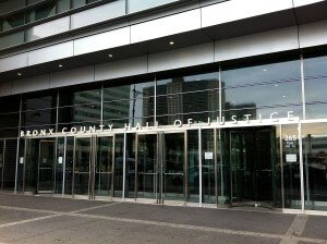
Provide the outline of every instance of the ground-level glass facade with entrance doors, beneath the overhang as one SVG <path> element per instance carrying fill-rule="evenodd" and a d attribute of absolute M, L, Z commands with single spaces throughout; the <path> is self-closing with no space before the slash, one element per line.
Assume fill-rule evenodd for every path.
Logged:
<path fill-rule="evenodd" d="M 327 120 L 311 109 L 325 102 L 325 61 L 222 63 L 4 97 L 1 190 L 327 210 Z"/>

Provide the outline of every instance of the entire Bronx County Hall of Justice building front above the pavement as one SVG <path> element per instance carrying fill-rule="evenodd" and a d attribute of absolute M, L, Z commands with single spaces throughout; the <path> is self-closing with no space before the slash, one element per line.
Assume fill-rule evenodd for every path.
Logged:
<path fill-rule="evenodd" d="M 324 213 L 326 11 L 1 0 L 1 191 Z"/>

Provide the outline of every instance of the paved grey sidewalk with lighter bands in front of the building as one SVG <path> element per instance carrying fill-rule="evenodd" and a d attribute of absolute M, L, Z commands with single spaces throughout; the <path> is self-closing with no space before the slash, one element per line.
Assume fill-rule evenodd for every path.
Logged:
<path fill-rule="evenodd" d="M 327 243 L 327 217 L 0 194 L 1 243 Z"/>

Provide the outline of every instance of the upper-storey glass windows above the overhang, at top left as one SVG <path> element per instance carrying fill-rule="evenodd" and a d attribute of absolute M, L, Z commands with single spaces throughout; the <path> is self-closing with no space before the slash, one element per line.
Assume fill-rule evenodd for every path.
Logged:
<path fill-rule="evenodd" d="M 0 2 L 0 49 L 172 2 L 175 0 L 4 0 Z M 51 21 L 44 23 L 47 19 Z"/>

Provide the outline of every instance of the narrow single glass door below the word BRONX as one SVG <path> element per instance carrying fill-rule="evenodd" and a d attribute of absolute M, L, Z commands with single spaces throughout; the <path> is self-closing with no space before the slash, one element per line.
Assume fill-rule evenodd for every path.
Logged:
<path fill-rule="evenodd" d="M 52 193 L 56 141 L 39 141 L 37 194 Z"/>

